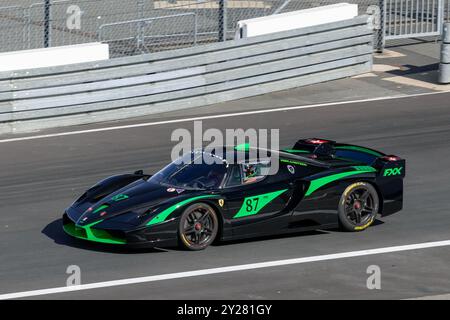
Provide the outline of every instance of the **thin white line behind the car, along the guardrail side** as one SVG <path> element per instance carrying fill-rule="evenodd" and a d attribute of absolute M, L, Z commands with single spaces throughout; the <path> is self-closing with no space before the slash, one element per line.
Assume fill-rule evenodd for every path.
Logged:
<path fill-rule="evenodd" d="M 173 120 L 165 120 L 165 121 L 157 121 L 157 122 L 145 122 L 145 123 L 137 123 L 137 124 L 123 125 L 123 126 L 115 126 L 115 127 L 96 128 L 96 129 L 78 130 L 78 131 L 68 131 L 68 132 L 60 132 L 60 133 L 52 133 L 52 134 L 43 134 L 43 135 L 26 136 L 26 137 L 20 137 L 20 138 L 4 139 L 4 140 L 0 140 L 0 143 L 18 142 L 18 141 L 27 141 L 27 140 L 37 140 L 37 139 L 46 139 L 46 138 L 64 137 L 64 136 L 73 136 L 73 135 L 78 135 L 78 134 L 87 134 L 87 133 L 104 132 L 104 131 L 115 131 L 115 130 L 124 130 L 124 129 L 132 129 L 132 128 L 151 127 L 151 126 L 158 126 L 158 125 L 164 125 L 164 124 L 192 122 L 192 121 L 220 119 L 220 118 L 230 118 L 230 117 L 248 116 L 248 115 L 273 113 L 273 112 L 283 112 L 283 111 L 291 111 L 291 110 L 311 109 L 311 108 L 329 107 L 329 106 L 341 106 L 341 105 L 346 105 L 346 104 L 357 104 L 357 103 L 364 103 L 364 102 L 375 102 L 375 101 L 396 100 L 396 99 L 404 99 L 404 98 L 414 98 L 414 97 L 431 96 L 431 95 L 437 95 L 437 94 L 443 94 L 443 93 L 447 93 L 447 92 L 427 92 L 427 93 L 418 93 L 418 94 L 412 94 L 412 95 L 398 95 L 398 96 L 391 96 L 391 97 L 379 97 L 379 98 L 370 98 L 370 99 L 361 99 L 361 100 L 351 100 L 351 101 L 311 104 L 311 105 L 304 105 L 304 106 L 280 107 L 280 108 L 273 108 L 273 109 L 263 109 L 263 110 L 254 110 L 254 111 L 246 111 L 246 112 L 236 112 L 236 113 L 228 113 L 228 114 L 193 117 L 193 118 L 173 119 Z"/>

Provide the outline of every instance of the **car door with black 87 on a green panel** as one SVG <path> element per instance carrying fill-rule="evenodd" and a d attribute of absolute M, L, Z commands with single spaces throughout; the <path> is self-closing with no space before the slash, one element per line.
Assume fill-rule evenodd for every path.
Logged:
<path fill-rule="evenodd" d="M 235 164 L 223 189 L 225 223 L 233 236 L 273 233 L 287 227 L 293 185 L 282 174 L 268 175 L 270 162 Z"/>

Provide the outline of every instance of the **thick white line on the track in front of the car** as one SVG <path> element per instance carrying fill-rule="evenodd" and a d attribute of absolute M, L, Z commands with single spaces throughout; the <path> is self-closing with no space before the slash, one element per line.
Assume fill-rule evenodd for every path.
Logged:
<path fill-rule="evenodd" d="M 113 280 L 113 281 L 97 282 L 97 283 L 90 283 L 90 284 L 82 284 L 82 285 L 71 286 L 71 287 L 59 287 L 59 288 L 50 288 L 50 289 L 43 289 L 43 290 L 8 293 L 8 294 L 1 294 L 0 300 L 19 299 L 19 298 L 35 297 L 35 296 L 50 295 L 50 294 L 57 294 L 57 293 L 68 293 L 68 292 L 82 291 L 82 290 L 92 290 L 92 289 L 116 287 L 116 286 L 123 286 L 123 285 L 132 285 L 132 284 L 139 284 L 139 283 L 148 283 L 148 282 L 163 281 L 163 280 L 174 280 L 174 279 L 181 279 L 181 278 L 213 275 L 213 274 L 219 274 L 219 273 L 247 271 L 247 270 L 272 268 L 272 267 L 288 266 L 288 265 L 327 261 L 327 260 L 362 257 L 362 256 L 377 255 L 377 254 L 383 254 L 383 253 L 410 251 L 410 250 L 436 248 L 436 247 L 446 247 L 446 246 L 450 246 L 450 240 L 436 241 L 436 242 L 424 242 L 424 243 L 417 243 L 417 244 L 410 244 L 410 245 L 384 247 L 384 248 L 351 251 L 351 252 L 343 252 L 343 253 L 334 253 L 334 254 L 295 258 L 295 259 L 267 261 L 267 262 L 259 262 L 259 263 L 251 263 L 251 264 L 243 264 L 243 265 L 212 268 L 212 269 L 203 269 L 203 270 L 195 270 L 195 271 L 177 272 L 177 273 L 161 274 L 161 275 L 148 276 L 148 277 L 129 278 L 129 279 L 122 279 L 122 280 Z"/>

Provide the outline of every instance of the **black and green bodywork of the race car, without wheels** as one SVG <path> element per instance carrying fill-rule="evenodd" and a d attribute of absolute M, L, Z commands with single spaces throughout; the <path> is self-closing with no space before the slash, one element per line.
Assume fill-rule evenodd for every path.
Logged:
<path fill-rule="evenodd" d="M 158 174 L 143 172 L 107 178 L 66 209 L 64 230 L 95 242 L 174 246 L 180 215 L 197 202 L 216 211 L 220 240 L 336 228 L 341 195 L 355 182 L 376 188 L 382 216 L 402 209 L 406 167 L 405 160 L 396 156 L 328 140 L 300 140 L 293 149 L 265 150 L 265 155 L 278 156 L 278 172 L 244 183 L 246 164 L 263 159 L 258 150 L 252 158 L 252 150 L 248 146 L 224 148 L 225 154 L 243 155 L 245 161 L 224 161 L 223 179 L 209 187 L 203 183 L 200 187 L 171 186 L 155 178 Z"/>

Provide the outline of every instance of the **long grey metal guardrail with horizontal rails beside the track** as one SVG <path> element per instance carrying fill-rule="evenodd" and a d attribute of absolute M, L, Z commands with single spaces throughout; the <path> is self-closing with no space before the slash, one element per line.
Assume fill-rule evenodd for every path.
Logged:
<path fill-rule="evenodd" d="M 0 133 L 138 117 L 365 73 L 373 60 L 370 20 L 2 72 Z"/>

